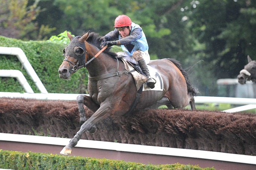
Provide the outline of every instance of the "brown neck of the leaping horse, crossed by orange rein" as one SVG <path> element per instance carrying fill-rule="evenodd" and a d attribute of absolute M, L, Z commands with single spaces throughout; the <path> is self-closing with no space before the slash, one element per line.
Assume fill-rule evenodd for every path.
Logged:
<path fill-rule="evenodd" d="M 88 51 L 90 60 L 99 52 L 99 50 L 98 48 L 89 43 L 86 44 L 86 49 Z M 113 60 L 113 58 L 109 57 L 107 54 L 103 52 L 101 52 L 98 55 L 98 57 L 94 58 L 94 60 L 92 60 L 91 63 L 89 63 L 86 66 L 90 77 L 95 77 L 113 72 L 114 69 L 116 70 L 116 67 L 117 64 L 115 64 L 115 60 Z"/>

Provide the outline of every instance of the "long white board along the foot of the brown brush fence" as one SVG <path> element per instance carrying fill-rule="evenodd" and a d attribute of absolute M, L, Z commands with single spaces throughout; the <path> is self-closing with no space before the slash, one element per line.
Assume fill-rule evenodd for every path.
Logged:
<path fill-rule="evenodd" d="M 65 146 L 67 143 L 69 143 L 71 139 L 60 137 L 0 133 L 0 140 Z M 77 143 L 76 147 L 105 149 L 121 152 L 135 152 L 142 154 L 170 155 L 176 157 L 209 159 L 243 164 L 256 164 L 256 156 L 228 154 L 212 151 L 200 151 L 193 149 L 166 148 L 159 146 L 134 145 L 83 139 L 79 140 L 79 143 Z"/>

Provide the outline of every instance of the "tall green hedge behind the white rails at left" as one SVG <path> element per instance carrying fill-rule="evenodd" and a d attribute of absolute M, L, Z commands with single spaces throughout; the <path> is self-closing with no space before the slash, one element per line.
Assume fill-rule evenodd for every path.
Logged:
<path fill-rule="evenodd" d="M 64 59 L 62 54 L 66 45 L 49 41 L 26 42 L 0 36 L 0 46 L 21 48 L 49 93 L 88 93 L 88 73 L 86 69 L 81 69 L 73 74 L 71 81 L 59 78 L 58 69 Z M 0 61 L 0 69 L 20 70 L 33 91 L 40 92 L 16 56 L 0 54 Z M 25 92 L 15 78 L 4 77 L 0 77 L 0 91 Z"/>

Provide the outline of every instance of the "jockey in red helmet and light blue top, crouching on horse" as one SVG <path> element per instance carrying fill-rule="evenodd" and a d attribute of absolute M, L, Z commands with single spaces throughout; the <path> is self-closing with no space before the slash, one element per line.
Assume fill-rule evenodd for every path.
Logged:
<path fill-rule="evenodd" d="M 142 72 L 147 76 L 147 86 L 154 88 L 156 80 L 150 77 L 148 71 L 147 64 L 150 61 L 150 56 L 148 54 L 147 39 L 142 28 L 133 23 L 126 15 L 117 16 L 114 28 L 114 31 L 109 32 L 102 38 L 101 47 L 121 45 L 124 52 L 118 52 L 119 55 L 124 55 L 126 56 L 124 58 L 128 61 L 139 65 Z"/>

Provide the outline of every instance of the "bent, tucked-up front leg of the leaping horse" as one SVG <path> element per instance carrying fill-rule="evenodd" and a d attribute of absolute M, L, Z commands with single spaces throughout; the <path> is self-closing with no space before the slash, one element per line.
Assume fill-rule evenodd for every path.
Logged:
<path fill-rule="evenodd" d="M 83 104 L 86 104 L 86 106 L 92 110 L 92 112 L 96 112 L 96 110 L 98 110 L 98 108 L 100 107 L 98 104 L 94 103 L 92 101 L 92 98 L 90 96 L 87 95 L 82 95 L 80 94 L 79 96 L 77 96 L 76 98 L 77 104 L 78 104 L 78 111 L 79 111 L 79 115 L 80 115 L 80 125 L 82 125 L 86 120 L 86 115 L 85 115 L 85 108 L 83 107 Z M 95 131 L 97 130 L 96 126 L 94 125 L 91 130 L 88 130 L 90 133 L 95 133 Z"/>

